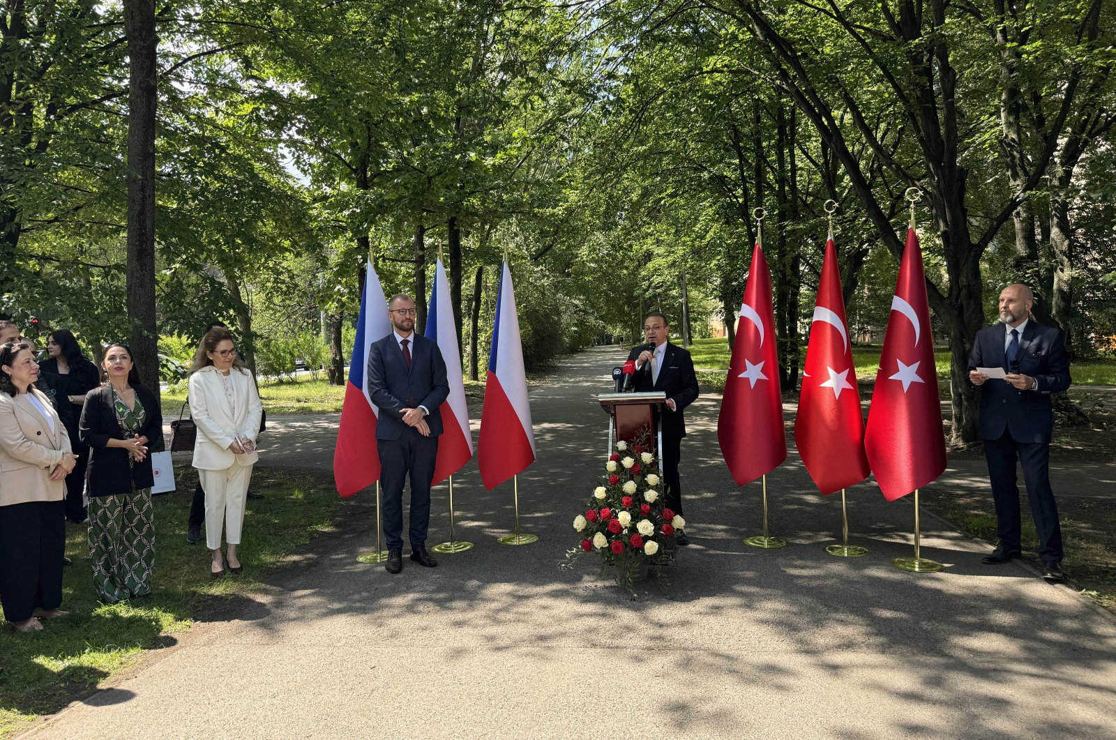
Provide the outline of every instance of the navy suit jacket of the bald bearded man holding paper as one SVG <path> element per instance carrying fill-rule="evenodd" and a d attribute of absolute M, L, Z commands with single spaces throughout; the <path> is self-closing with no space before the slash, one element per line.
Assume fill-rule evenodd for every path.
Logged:
<path fill-rule="evenodd" d="M 1008 368 L 1004 352 L 1007 329 L 1003 324 L 977 333 L 969 369 L 978 367 Z M 1049 442 L 1054 431 L 1051 393 L 1069 387 L 1069 355 L 1066 338 L 1054 327 L 1042 326 L 1033 318 L 1027 321 L 1019 338 L 1019 372 L 1038 382 L 1038 391 L 1017 391 L 998 378 L 980 386 L 980 421 L 978 433 L 983 440 L 998 440 L 1007 429 L 1017 442 Z"/>

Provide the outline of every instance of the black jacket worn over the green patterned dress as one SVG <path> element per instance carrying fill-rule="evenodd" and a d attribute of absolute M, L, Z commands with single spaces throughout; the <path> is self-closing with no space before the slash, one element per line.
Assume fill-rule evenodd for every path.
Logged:
<path fill-rule="evenodd" d="M 146 386 L 136 385 L 134 388 L 146 415 L 140 435 L 147 438 L 150 452 L 157 452 L 163 449 L 163 412 L 155 394 Z M 81 410 L 80 434 L 81 443 L 90 448 L 87 473 L 90 497 L 131 493 L 155 484 L 151 454 L 143 462 L 129 465 L 132 455 L 127 450 L 108 446 L 108 440 L 124 439 L 124 430 L 116 419 L 110 385 L 103 385 L 86 396 L 85 407 Z"/>

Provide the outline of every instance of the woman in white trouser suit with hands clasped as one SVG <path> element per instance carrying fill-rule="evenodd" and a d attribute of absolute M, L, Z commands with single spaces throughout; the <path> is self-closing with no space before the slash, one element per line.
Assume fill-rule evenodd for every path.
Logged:
<path fill-rule="evenodd" d="M 256 435 L 261 412 L 252 374 L 237 357 L 232 335 L 223 327 L 210 329 L 194 355 L 190 413 L 198 425 L 193 464 L 205 489 L 205 541 L 213 554 L 213 578 L 224 576 L 222 525 L 229 570 L 235 575 L 243 571 L 237 546 L 252 465 L 259 458 Z"/>

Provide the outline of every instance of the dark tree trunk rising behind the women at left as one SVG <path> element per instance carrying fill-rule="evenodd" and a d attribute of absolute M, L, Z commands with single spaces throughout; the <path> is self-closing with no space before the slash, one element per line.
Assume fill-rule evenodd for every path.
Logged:
<path fill-rule="evenodd" d="M 154 0 L 125 0 L 128 48 L 127 311 L 133 358 L 144 384 L 160 396 L 155 325 L 155 86 Z"/>

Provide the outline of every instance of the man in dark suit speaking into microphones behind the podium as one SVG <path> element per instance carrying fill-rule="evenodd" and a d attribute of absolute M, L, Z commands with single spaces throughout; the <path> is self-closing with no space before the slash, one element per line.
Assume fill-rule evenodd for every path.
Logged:
<path fill-rule="evenodd" d="M 666 507 L 681 515 L 682 482 L 679 462 L 682 458 L 682 438 L 686 435 L 682 411 L 698 398 L 698 375 L 690 353 L 666 340 L 670 330 L 665 316 L 647 314 L 643 320 L 643 334 L 647 344 L 634 347 L 628 359 L 635 361 L 634 386 L 637 393 L 662 391 L 666 394 L 660 459 L 663 478 L 666 480 Z M 684 531 L 679 532 L 677 544 L 690 544 Z"/>

